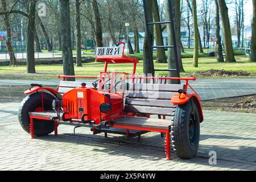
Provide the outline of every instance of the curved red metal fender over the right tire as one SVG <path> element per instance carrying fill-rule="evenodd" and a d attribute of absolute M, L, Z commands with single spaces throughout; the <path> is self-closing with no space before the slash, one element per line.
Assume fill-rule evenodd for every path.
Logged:
<path fill-rule="evenodd" d="M 204 115 L 203 115 L 202 106 L 200 104 L 200 97 L 197 96 L 197 94 L 195 94 L 195 93 L 181 94 L 181 95 L 183 95 L 183 97 L 180 98 L 180 94 L 174 94 L 174 96 L 172 96 L 172 99 L 171 99 L 172 104 L 183 105 L 183 104 L 187 103 L 192 97 L 193 101 L 195 102 L 197 109 L 199 111 L 200 122 L 203 122 Z"/>

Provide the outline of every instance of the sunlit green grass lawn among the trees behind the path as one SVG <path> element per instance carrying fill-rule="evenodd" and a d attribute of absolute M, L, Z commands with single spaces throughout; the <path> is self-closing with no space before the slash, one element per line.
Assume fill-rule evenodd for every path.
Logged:
<path fill-rule="evenodd" d="M 249 63 L 248 57 L 236 56 L 237 63 L 217 63 L 212 57 L 202 57 L 199 59 L 199 68 L 192 67 L 192 59 L 183 59 L 183 67 L 185 73 L 181 76 L 193 73 L 196 71 L 207 71 L 209 69 L 225 69 L 225 70 L 243 70 L 256 76 L 256 63 Z M 155 64 L 155 68 L 166 69 L 167 64 Z M 128 72 L 131 73 L 133 64 L 110 64 L 108 71 Z M 83 64 L 83 67 L 75 67 L 76 75 L 94 75 L 97 76 L 101 71 L 104 71 L 104 63 L 88 63 Z M 143 62 L 140 61 L 137 66 L 137 75 L 143 73 Z M 158 72 L 159 75 L 167 75 L 167 72 Z M 36 74 L 26 73 L 26 66 L 19 67 L 0 67 L 0 79 L 23 79 L 23 80 L 45 80 L 55 79 L 57 75 L 63 75 L 62 65 L 36 65 Z M 213 77 L 210 77 L 213 78 Z M 220 77 L 218 77 L 220 78 Z M 225 77 L 227 78 L 227 77 Z"/>

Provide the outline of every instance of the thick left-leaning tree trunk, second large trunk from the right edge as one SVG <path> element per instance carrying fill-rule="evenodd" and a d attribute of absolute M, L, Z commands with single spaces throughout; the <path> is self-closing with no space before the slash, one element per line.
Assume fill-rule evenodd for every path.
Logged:
<path fill-rule="evenodd" d="M 234 53 L 233 53 L 228 7 L 226 7 L 226 2 L 222 0 L 218 0 L 218 7 L 220 9 L 220 14 L 222 19 L 222 32 L 223 32 L 223 38 L 224 38 L 226 63 L 236 62 L 236 60 L 234 59 Z"/>

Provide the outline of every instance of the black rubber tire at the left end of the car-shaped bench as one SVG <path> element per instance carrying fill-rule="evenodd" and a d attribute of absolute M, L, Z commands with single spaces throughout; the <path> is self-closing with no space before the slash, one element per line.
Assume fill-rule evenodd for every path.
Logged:
<path fill-rule="evenodd" d="M 41 97 L 41 92 L 35 92 L 24 98 L 22 103 L 20 104 L 18 115 L 19 123 L 27 133 L 30 133 L 30 118 L 28 116 L 28 113 L 42 106 Z M 52 100 L 55 100 L 56 98 L 46 92 L 43 92 L 43 98 L 44 109 L 52 110 Z M 37 137 L 48 135 L 52 133 L 52 131 L 54 131 L 54 122 L 34 119 L 34 131 L 35 136 Z"/>

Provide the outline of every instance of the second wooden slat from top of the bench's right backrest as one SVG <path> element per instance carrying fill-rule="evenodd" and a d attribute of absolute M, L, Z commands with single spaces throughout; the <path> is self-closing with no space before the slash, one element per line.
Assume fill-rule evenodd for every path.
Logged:
<path fill-rule="evenodd" d="M 175 92 L 153 92 L 153 91 L 130 91 L 126 97 L 131 98 L 152 98 L 152 99 L 166 99 L 171 100 Z"/>

